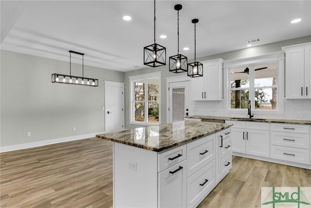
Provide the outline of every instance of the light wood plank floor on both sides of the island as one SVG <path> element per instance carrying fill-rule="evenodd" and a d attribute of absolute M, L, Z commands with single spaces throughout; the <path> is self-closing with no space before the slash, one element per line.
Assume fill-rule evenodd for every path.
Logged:
<path fill-rule="evenodd" d="M 200 208 L 260 208 L 261 187 L 311 187 L 311 170 L 233 157 Z M 1 208 L 111 208 L 112 142 L 90 138 L 0 153 Z"/>

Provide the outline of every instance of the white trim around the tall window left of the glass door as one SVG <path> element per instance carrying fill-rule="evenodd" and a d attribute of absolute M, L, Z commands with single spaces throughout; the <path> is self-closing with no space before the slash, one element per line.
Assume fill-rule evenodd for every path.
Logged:
<path fill-rule="evenodd" d="M 148 123 L 148 122 L 141 122 L 141 121 L 134 121 L 134 86 L 133 81 L 141 81 L 146 79 L 155 79 L 159 80 L 159 122 L 158 123 Z M 136 76 L 129 76 L 129 83 L 130 83 L 130 124 L 134 125 L 142 125 L 142 126 L 157 126 L 161 124 L 161 72 L 155 73 L 148 73 L 143 75 L 136 75 Z"/>

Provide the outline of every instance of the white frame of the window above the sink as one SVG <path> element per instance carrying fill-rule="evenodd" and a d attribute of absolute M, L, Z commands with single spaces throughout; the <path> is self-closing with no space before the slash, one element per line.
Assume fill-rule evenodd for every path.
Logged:
<path fill-rule="evenodd" d="M 224 101 L 225 113 L 245 114 L 247 116 L 248 109 L 231 109 L 231 88 L 230 88 L 230 69 L 238 67 L 251 67 L 249 73 L 249 87 L 239 88 L 240 90 L 249 90 L 249 97 L 251 97 L 252 113 L 256 115 L 271 115 L 284 114 L 284 52 L 277 52 L 273 54 L 263 55 L 259 57 L 250 57 L 244 59 L 228 60 L 224 62 Z M 255 71 L 254 67 L 263 64 L 277 64 L 277 109 L 255 109 L 255 90 L 268 87 L 255 87 Z M 252 72 L 251 72 L 252 71 Z"/>

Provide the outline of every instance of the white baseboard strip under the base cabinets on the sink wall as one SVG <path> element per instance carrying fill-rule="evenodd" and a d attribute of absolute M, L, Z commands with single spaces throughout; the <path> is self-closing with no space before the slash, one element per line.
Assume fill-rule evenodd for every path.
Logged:
<path fill-rule="evenodd" d="M 232 155 L 311 170 L 311 165 L 303 164 L 303 163 L 295 163 L 295 162 L 291 162 L 291 161 L 278 160 L 278 159 L 274 159 L 274 158 L 270 158 L 270 157 L 261 157 L 261 156 L 251 155 L 251 154 L 244 154 L 244 153 L 240 153 L 240 152 L 232 152 Z"/>

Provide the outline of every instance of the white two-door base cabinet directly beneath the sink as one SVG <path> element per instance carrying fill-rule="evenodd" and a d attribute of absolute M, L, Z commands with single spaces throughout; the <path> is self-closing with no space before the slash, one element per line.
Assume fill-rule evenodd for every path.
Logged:
<path fill-rule="evenodd" d="M 226 121 L 231 128 L 232 151 L 269 157 L 269 123 Z"/>

